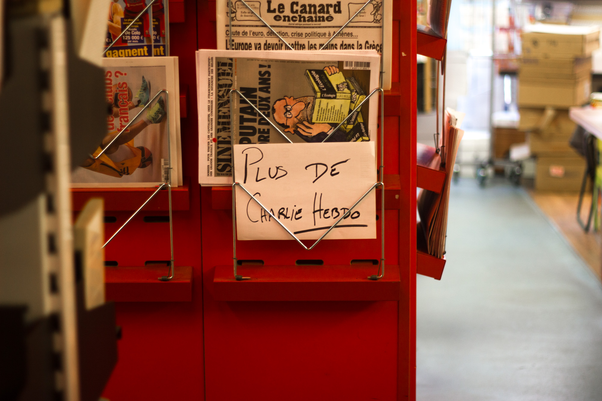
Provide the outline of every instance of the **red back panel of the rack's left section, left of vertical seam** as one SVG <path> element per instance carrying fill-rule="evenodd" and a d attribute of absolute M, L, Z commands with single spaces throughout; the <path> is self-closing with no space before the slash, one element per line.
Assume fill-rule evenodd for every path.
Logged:
<path fill-rule="evenodd" d="M 208 41 L 215 37 L 215 26 L 206 26 L 206 19 L 197 24 L 197 12 L 206 12 L 205 4 L 184 1 L 185 22 L 170 24 L 170 52 L 179 57 L 180 82 L 191 91 L 187 97 L 188 118 L 181 120 L 181 132 L 182 167 L 193 184 L 188 189 L 190 208 L 173 213 L 173 241 L 176 269 L 192 267 L 192 300 L 116 303 L 117 324 L 122 326 L 123 337 L 118 341 L 119 361 L 103 393 L 111 401 L 198 401 L 205 397 L 200 188 L 194 184 L 198 182 L 199 149 L 194 51 L 199 48 L 199 36 Z M 111 212 L 117 223 L 107 224 L 105 231 L 112 233 L 129 213 Z M 169 259 L 169 225 L 143 220 L 147 215 L 167 213 L 140 213 L 142 216 L 135 217 L 105 248 L 106 260 L 118 261 L 120 266 L 144 266 L 147 260 Z"/>

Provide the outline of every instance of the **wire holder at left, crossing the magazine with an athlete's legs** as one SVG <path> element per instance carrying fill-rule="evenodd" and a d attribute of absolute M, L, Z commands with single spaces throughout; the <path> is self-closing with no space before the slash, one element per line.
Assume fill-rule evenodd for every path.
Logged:
<path fill-rule="evenodd" d="M 155 197 L 156 194 L 159 193 L 159 191 L 161 191 L 163 188 L 167 188 L 167 198 L 169 200 L 169 245 L 170 245 L 170 249 L 171 249 L 171 259 L 169 261 L 169 276 L 161 276 L 158 279 L 161 281 L 170 281 L 173 278 L 173 270 L 174 270 L 174 266 L 173 266 L 173 219 L 172 219 L 172 147 L 171 147 L 171 141 L 170 141 L 170 125 L 169 125 L 169 92 L 167 92 L 167 90 L 165 89 L 161 89 L 159 92 L 157 92 L 157 95 L 153 96 L 153 98 L 147 102 L 146 105 L 144 105 L 144 107 L 142 108 L 142 110 L 140 110 L 138 112 L 138 114 L 136 114 L 136 116 L 131 119 L 128 124 L 123 127 L 123 129 L 121 131 L 119 131 L 119 134 L 115 135 L 115 137 L 113 138 L 113 140 L 111 140 L 107 146 L 105 146 L 103 149 L 101 149 L 101 152 L 96 155 L 96 157 L 94 157 L 93 155 L 90 155 L 90 157 L 93 160 L 98 159 L 99 157 L 101 157 L 105 151 L 113 144 L 114 141 L 117 140 L 117 138 L 119 138 L 119 136 L 126 131 L 126 129 L 129 128 L 129 126 L 134 123 L 134 121 L 140 116 L 140 114 L 143 113 L 144 110 L 146 110 L 151 104 L 152 102 L 155 101 L 155 99 L 158 98 L 158 96 L 161 95 L 161 93 L 165 94 L 165 107 L 167 109 L 167 169 L 164 169 L 165 171 L 165 175 L 164 175 L 164 182 L 161 183 L 160 185 L 157 185 L 157 189 L 151 194 L 151 196 L 149 196 L 148 199 L 146 199 L 146 201 L 144 201 L 144 203 L 142 205 L 140 205 L 140 207 L 131 215 L 129 216 L 128 220 L 125 221 L 125 223 L 123 223 L 122 226 L 119 227 L 119 229 L 117 229 L 117 231 L 114 232 L 113 235 L 111 235 L 111 238 L 109 238 L 107 240 L 107 242 L 105 242 L 105 244 L 102 247 L 107 246 L 108 243 L 111 242 L 111 240 L 113 240 L 113 238 L 116 237 L 117 234 L 119 234 L 120 231 L 122 231 L 122 229 L 128 225 L 129 222 L 131 222 L 132 219 L 134 219 L 134 217 L 138 214 L 138 212 L 140 212 L 142 210 L 142 208 L 144 206 L 146 206 L 146 204 L 148 202 L 151 201 L 151 199 L 153 199 Z"/>

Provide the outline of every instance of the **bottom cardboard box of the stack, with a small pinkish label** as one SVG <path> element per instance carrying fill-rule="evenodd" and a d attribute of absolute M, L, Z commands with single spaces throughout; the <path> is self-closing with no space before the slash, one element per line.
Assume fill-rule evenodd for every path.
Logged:
<path fill-rule="evenodd" d="M 535 189 L 540 191 L 579 191 L 585 173 L 583 158 L 539 157 Z"/>

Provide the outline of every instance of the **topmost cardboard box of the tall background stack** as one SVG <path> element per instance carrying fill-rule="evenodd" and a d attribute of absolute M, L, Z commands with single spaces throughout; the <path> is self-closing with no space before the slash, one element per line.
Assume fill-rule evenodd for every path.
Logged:
<path fill-rule="evenodd" d="M 596 26 L 538 23 L 523 30 L 523 55 L 537 58 L 589 57 L 600 47 Z"/>

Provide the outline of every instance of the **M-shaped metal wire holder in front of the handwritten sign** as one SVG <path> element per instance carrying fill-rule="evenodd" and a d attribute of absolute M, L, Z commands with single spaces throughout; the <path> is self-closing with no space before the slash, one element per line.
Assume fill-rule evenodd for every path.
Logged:
<path fill-rule="evenodd" d="M 267 214 L 269 214 L 272 219 L 276 220 L 276 222 L 278 222 L 278 224 L 285 229 L 285 231 L 288 232 L 288 234 L 293 237 L 294 240 L 297 241 L 297 243 L 299 243 L 303 249 L 305 250 L 312 250 L 314 249 L 314 247 L 321 241 L 323 240 L 324 237 L 326 237 L 326 235 L 333 229 L 335 228 L 335 226 L 338 225 L 338 223 L 344 219 L 345 216 L 349 215 L 351 213 L 351 211 L 353 210 L 353 208 L 355 208 L 359 202 L 361 202 L 372 190 L 374 190 L 376 187 L 380 187 L 381 191 L 384 191 L 385 189 L 385 184 L 383 183 L 383 140 L 384 140 L 384 125 L 383 122 L 385 121 L 384 118 L 384 101 L 385 101 L 385 91 L 382 90 L 382 88 L 377 88 L 374 89 L 372 92 L 370 92 L 370 95 L 366 96 L 366 98 L 359 104 L 357 105 L 356 108 L 353 109 L 353 111 L 351 113 L 349 113 L 349 115 L 347 115 L 347 117 L 336 127 L 332 130 L 332 132 L 330 132 L 330 134 L 324 138 L 324 140 L 322 142 L 325 142 L 328 138 L 330 138 L 330 136 L 332 134 L 334 134 L 334 132 L 337 131 L 338 128 L 340 128 L 341 125 L 343 125 L 344 122 L 347 121 L 347 119 L 349 119 L 350 116 L 352 116 L 353 113 L 355 113 L 355 111 L 358 111 L 362 105 L 368 101 L 368 99 L 371 98 L 372 95 L 374 95 L 374 93 L 376 92 L 380 92 L 380 166 L 379 166 L 379 170 L 378 170 L 378 178 L 379 180 L 377 182 L 375 182 L 359 199 L 358 201 L 356 201 L 352 207 L 349 208 L 349 210 L 347 211 L 347 213 L 343 214 L 343 216 L 339 217 L 338 220 L 332 225 L 330 226 L 329 229 L 326 230 L 326 232 L 324 232 L 324 234 L 321 235 L 320 238 L 318 238 L 318 240 L 316 240 L 311 246 L 306 246 L 304 243 L 301 242 L 301 240 L 299 240 L 299 238 L 297 238 L 296 235 L 293 234 L 293 232 L 290 231 L 290 229 L 287 228 L 287 226 L 284 225 L 284 223 L 282 223 L 276 216 L 274 216 L 274 214 L 272 212 L 270 212 L 269 208 L 265 207 L 260 201 L 259 199 L 257 199 L 255 196 L 253 196 L 253 194 L 251 194 L 242 184 L 240 184 L 240 182 L 236 181 L 236 176 L 235 176 L 235 169 L 234 169 L 234 157 L 232 157 L 232 250 L 233 250 L 233 257 L 232 259 L 234 260 L 234 278 L 237 281 L 241 281 L 241 280 L 245 280 L 245 279 L 250 279 L 250 277 L 243 277 L 242 275 L 239 275 L 237 273 L 237 257 L 236 257 L 236 187 L 240 187 L 242 188 L 243 191 L 245 191 L 255 202 L 257 202 L 257 204 L 263 209 L 265 210 L 265 212 Z M 253 107 L 253 109 L 255 109 L 255 111 L 259 114 L 259 116 L 263 116 L 264 114 L 261 113 L 261 111 L 259 111 L 259 109 L 257 107 L 255 107 L 255 105 L 252 104 L 252 102 L 249 101 L 249 99 L 245 98 L 244 95 L 236 90 L 236 89 L 232 89 L 230 90 L 230 124 L 231 126 L 234 126 L 234 121 L 232 120 L 234 118 L 234 113 L 232 113 L 232 94 L 237 93 L 238 96 L 240 96 L 245 102 L 247 102 L 247 104 L 249 104 L 251 107 Z M 284 134 L 284 132 L 282 132 L 272 121 L 270 121 L 270 119 L 265 119 L 267 120 L 267 122 L 270 123 L 270 125 L 272 125 L 273 128 L 276 129 L 276 131 L 278 131 L 289 143 L 293 143 L 293 141 L 290 140 L 290 138 L 287 137 L 287 135 Z M 371 275 L 368 277 L 368 279 L 370 280 L 377 280 L 382 278 L 385 275 L 385 196 L 384 193 L 382 194 L 382 196 L 380 196 L 380 203 L 381 203 L 381 208 L 380 208 L 380 214 L 381 214 L 381 222 L 380 222 L 380 263 L 379 263 L 379 268 L 378 268 L 378 272 L 376 275 Z"/>

